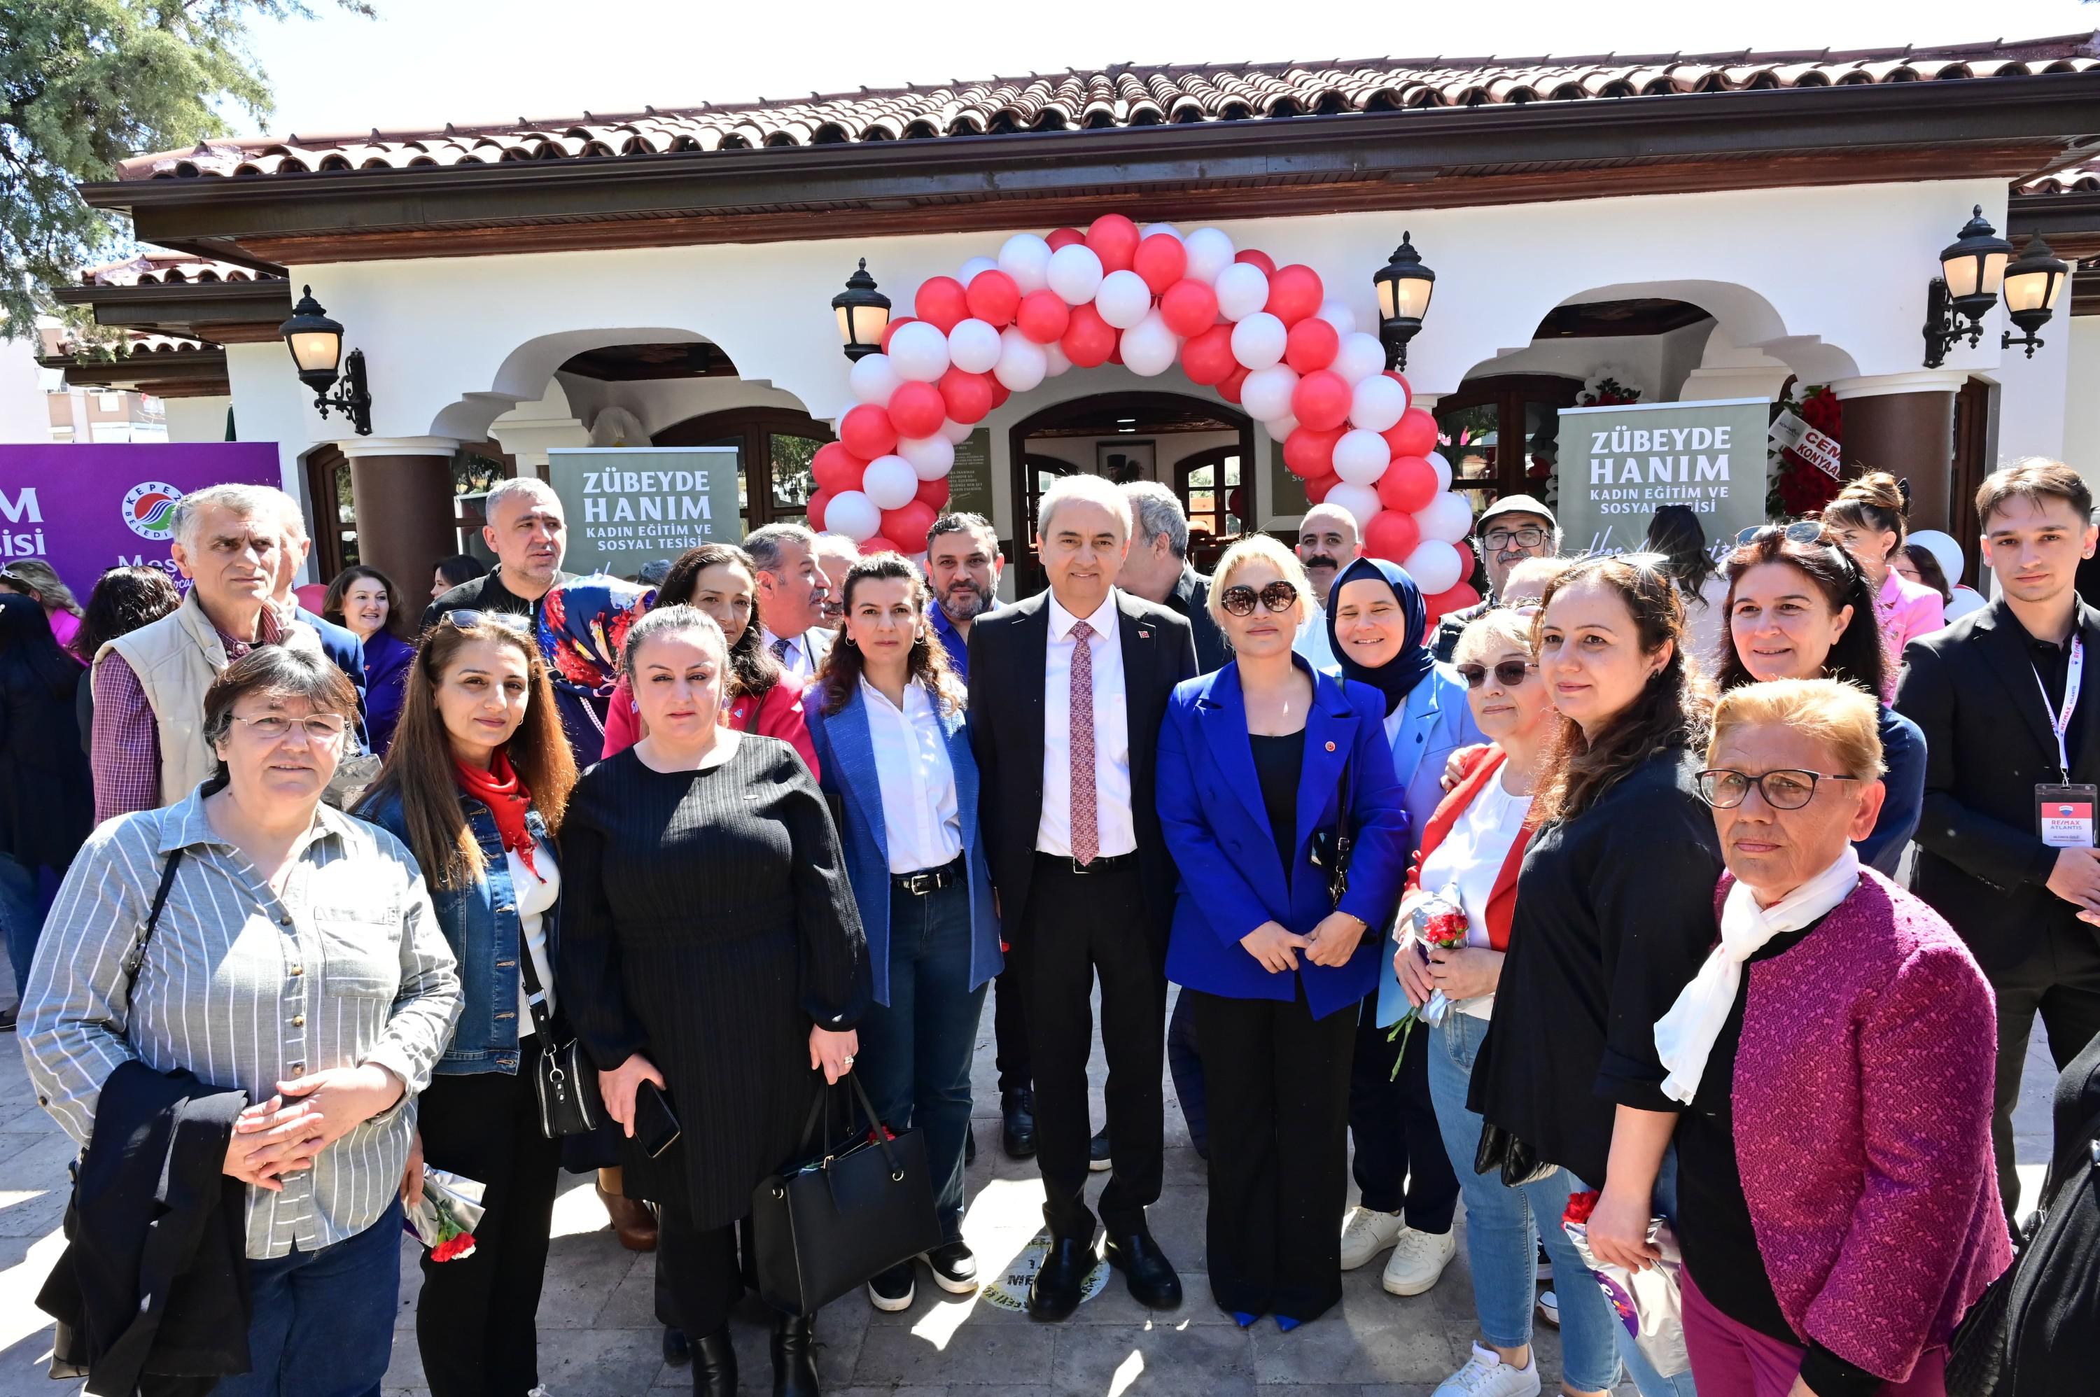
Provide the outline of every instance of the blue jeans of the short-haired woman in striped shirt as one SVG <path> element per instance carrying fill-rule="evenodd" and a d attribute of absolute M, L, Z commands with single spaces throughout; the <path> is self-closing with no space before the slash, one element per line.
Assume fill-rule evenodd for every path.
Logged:
<path fill-rule="evenodd" d="M 401 1307 L 401 1200 L 319 1252 L 248 1263 L 248 1372 L 212 1397 L 378 1397 Z"/>

